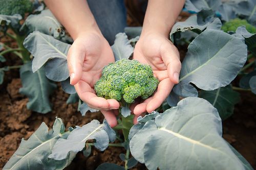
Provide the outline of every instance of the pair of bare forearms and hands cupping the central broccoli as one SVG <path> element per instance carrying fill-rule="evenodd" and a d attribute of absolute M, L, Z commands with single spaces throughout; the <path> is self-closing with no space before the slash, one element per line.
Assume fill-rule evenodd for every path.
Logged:
<path fill-rule="evenodd" d="M 101 110 L 110 126 L 116 126 L 118 101 L 99 98 L 93 89 L 100 78 L 102 68 L 115 59 L 87 1 L 45 0 L 45 3 L 74 39 L 68 53 L 70 83 L 75 86 L 81 100 L 89 107 Z M 134 123 L 137 123 L 140 114 L 157 109 L 173 86 L 179 82 L 179 53 L 168 40 L 168 34 L 184 3 L 185 0 L 148 1 L 142 33 L 134 50 L 134 59 L 151 65 L 160 84 L 151 98 L 133 104 L 131 108 L 135 114 Z"/>

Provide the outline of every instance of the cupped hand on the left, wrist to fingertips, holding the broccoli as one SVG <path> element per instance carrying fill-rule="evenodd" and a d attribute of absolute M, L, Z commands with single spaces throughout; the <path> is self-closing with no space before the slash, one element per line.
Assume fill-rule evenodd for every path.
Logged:
<path fill-rule="evenodd" d="M 97 32 L 81 33 L 68 52 L 70 84 L 75 86 L 79 98 L 90 108 L 101 110 L 111 127 L 117 125 L 119 102 L 96 95 L 95 83 L 105 65 L 115 62 L 111 47 Z"/>

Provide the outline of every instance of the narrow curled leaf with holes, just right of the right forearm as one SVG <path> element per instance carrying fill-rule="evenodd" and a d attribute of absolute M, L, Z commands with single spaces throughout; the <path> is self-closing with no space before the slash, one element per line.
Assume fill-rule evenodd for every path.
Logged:
<path fill-rule="evenodd" d="M 188 17 L 185 21 L 175 23 L 172 30 L 170 31 L 170 39 L 174 42 L 174 33 L 176 32 L 185 32 L 188 30 L 192 30 L 200 34 L 204 29 L 208 27 L 211 29 L 220 29 L 220 19 L 215 18 L 211 22 L 205 22 L 199 25 L 197 15 L 192 15 Z"/>

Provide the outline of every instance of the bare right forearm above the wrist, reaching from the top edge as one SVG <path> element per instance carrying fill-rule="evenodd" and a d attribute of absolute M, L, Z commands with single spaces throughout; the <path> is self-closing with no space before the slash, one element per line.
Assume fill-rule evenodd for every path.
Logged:
<path fill-rule="evenodd" d="M 185 0 L 148 0 L 142 35 L 151 32 L 168 37 Z"/>

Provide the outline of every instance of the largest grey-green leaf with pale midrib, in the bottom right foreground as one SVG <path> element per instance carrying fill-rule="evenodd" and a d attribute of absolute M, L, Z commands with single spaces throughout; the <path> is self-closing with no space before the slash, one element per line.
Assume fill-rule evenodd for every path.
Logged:
<path fill-rule="evenodd" d="M 148 169 L 245 169 L 221 135 L 217 109 L 189 97 L 146 122 L 131 139 L 130 149 Z"/>

